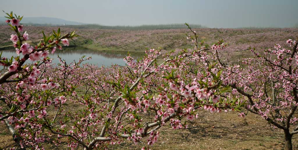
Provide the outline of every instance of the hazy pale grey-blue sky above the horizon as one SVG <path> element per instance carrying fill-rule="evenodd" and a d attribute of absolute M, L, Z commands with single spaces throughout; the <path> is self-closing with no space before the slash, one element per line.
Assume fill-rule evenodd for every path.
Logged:
<path fill-rule="evenodd" d="M 102 25 L 197 23 L 211 28 L 292 27 L 297 0 L 0 0 L 24 17 Z M 4 16 L 4 15 L 2 15 Z"/>

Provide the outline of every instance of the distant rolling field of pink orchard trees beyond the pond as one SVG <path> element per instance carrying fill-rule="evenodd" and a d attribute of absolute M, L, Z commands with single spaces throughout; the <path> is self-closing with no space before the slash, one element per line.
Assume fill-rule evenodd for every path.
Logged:
<path fill-rule="evenodd" d="M 158 29 L 158 30 L 117 30 L 117 29 L 85 29 L 84 26 L 61 26 L 61 31 L 66 33 L 76 30 L 80 37 L 70 42 L 70 45 L 79 45 L 101 51 L 143 52 L 146 48 L 162 48 L 164 51 L 171 49 L 193 48 L 193 43 L 186 39 L 188 29 Z M 58 27 L 25 26 L 31 41 L 38 41 L 42 37 L 41 31 L 51 33 Z M 272 48 L 274 44 L 285 45 L 289 38 L 295 39 L 297 28 L 265 28 L 265 29 L 194 29 L 199 40 L 204 40 L 211 45 L 223 39 L 229 44 L 224 53 L 236 59 L 247 54 L 247 48 L 258 49 Z M 0 48 L 10 45 L 12 31 L 8 26 L 0 25 Z M 232 54 L 232 55 L 231 55 Z"/>

